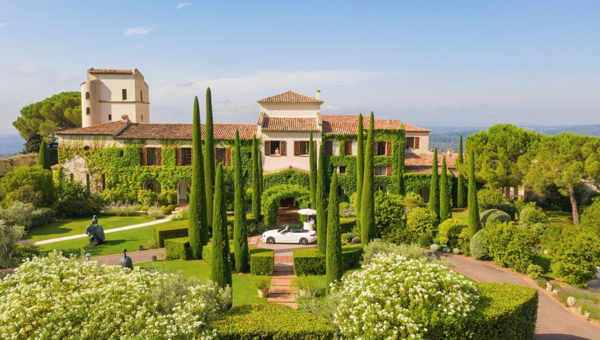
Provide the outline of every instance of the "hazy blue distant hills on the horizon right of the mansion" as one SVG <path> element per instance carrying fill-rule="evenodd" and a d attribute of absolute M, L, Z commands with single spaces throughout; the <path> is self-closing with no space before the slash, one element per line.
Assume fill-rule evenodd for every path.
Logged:
<path fill-rule="evenodd" d="M 569 125 L 569 126 L 520 126 L 526 130 L 532 130 L 545 135 L 557 135 L 561 132 L 572 132 L 578 135 L 589 135 L 600 137 L 600 124 L 593 125 Z M 429 147 L 437 150 L 458 150 L 458 136 L 463 135 L 463 142 L 467 136 L 481 130 L 487 130 L 487 127 L 455 127 L 455 126 L 428 126 L 431 129 L 429 134 Z"/>

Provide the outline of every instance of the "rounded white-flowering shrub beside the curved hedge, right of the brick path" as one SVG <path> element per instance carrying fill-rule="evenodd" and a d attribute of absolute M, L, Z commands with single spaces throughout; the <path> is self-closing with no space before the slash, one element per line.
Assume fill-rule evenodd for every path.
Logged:
<path fill-rule="evenodd" d="M 380 254 L 332 289 L 341 339 L 431 339 L 428 327 L 464 323 L 475 310 L 475 286 L 436 263 Z M 443 329 L 443 327 L 442 327 Z"/>

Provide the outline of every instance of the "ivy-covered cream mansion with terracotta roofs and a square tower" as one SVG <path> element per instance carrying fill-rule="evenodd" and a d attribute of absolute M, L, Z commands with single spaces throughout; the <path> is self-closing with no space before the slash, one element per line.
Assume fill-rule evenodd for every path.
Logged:
<path fill-rule="evenodd" d="M 82 127 L 56 132 L 63 175 L 97 191 L 177 189 L 179 203 L 186 204 L 191 177 L 192 124 L 150 123 L 148 85 L 137 69 L 90 68 L 88 81 L 82 83 L 81 89 Z M 358 114 L 323 114 L 320 91 L 314 97 L 287 91 L 257 103 L 254 123 L 214 124 L 213 154 L 217 162 L 231 165 L 232 140 L 238 130 L 246 145 L 251 144 L 253 136 L 260 139 L 265 177 L 286 174 L 280 177 L 296 178 L 292 173 L 308 172 L 312 133 L 317 143 L 325 145 L 326 166 L 340 174 L 340 196 L 355 191 Z M 365 113 L 366 133 L 368 112 Z M 421 178 L 419 183 L 426 183 L 423 178 L 431 174 L 433 160 L 428 145 L 431 130 L 395 119 L 375 119 L 374 129 L 375 185 L 391 190 L 395 186 L 392 175 L 397 171 L 403 171 L 405 180 L 413 176 Z M 204 136 L 203 124 L 201 131 Z M 98 162 L 100 156 L 92 157 L 92 153 L 100 150 L 108 156 Z M 398 162 L 398 157 L 404 161 Z M 452 150 L 441 153 L 440 164 L 441 157 L 446 157 L 449 171 L 455 173 L 456 154 Z M 242 154 L 242 158 L 242 162 L 251 162 L 250 157 Z M 407 187 L 427 200 L 428 183 L 415 185 Z"/>

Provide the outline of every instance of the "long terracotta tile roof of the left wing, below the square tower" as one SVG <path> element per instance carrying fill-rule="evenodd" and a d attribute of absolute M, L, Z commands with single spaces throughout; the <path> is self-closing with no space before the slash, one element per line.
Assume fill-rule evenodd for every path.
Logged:
<path fill-rule="evenodd" d="M 119 129 L 125 122 L 100 124 L 80 129 L 63 130 L 59 135 L 114 135 L 119 129 L 113 129 L 118 124 Z M 110 127 L 110 129 L 109 129 Z M 204 124 L 200 126 L 204 137 Z M 233 139 L 235 130 L 239 130 L 239 138 L 250 139 L 256 133 L 255 124 L 214 124 L 215 139 Z M 191 140 L 192 124 L 137 124 L 130 123 L 122 132 L 114 136 L 115 139 L 182 139 Z"/>

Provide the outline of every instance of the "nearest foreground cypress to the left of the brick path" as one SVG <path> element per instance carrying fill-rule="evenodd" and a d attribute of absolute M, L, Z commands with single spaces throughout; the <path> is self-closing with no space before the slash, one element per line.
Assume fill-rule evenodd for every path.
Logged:
<path fill-rule="evenodd" d="M 231 264 L 229 263 L 229 237 L 227 237 L 227 215 L 225 208 L 225 186 L 223 165 L 217 167 L 215 194 L 212 206 L 212 266 L 211 280 L 219 287 L 231 287 Z"/>

